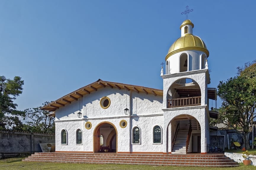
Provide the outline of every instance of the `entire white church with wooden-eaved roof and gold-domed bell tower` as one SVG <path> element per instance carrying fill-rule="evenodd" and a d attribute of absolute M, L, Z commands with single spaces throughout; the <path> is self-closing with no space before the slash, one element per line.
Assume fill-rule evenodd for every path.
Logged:
<path fill-rule="evenodd" d="M 97 80 L 42 107 L 56 152 L 201 153 L 210 146 L 209 51 L 185 20 L 161 70 L 163 90 Z"/>

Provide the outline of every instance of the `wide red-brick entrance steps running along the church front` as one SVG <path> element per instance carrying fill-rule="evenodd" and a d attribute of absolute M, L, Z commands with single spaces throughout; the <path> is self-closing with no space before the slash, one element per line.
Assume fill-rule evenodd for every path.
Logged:
<path fill-rule="evenodd" d="M 87 164 L 135 164 L 154 166 L 207 166 L 234 167 L 237 162 L 224 154 L 133 154 L 133 153 L 35 153 L 22 161 L 87 163 Z"/>

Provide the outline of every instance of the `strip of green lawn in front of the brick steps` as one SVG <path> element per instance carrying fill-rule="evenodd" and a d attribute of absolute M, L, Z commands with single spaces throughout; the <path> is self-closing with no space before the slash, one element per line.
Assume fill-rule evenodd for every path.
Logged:
<path fill-rule="evenodd" d="M 235 168 L 208 168 L 182 166 L 22 162 L 22 159 L 24 159 L 24 157 L 2 159 L 0 160 L 0 170 L 255 170 L 255 166 L 244 165 Z"/>

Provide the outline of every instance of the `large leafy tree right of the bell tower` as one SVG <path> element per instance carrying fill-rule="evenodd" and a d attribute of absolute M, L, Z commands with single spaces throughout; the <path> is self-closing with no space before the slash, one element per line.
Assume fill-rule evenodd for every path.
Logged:
<path fill-rule="evenodd" d="M 227 81 L 220 81 L 218 96 L 222 99 L 221 110 L 225 114 L 228 123 L 237 133 L 240 133 L 249 149 L 249 135 L 252 130 L 250 123 L 256 117 L 256 61 L 245 63 L 244 67 L 238 67 L 238 76 Z"/>

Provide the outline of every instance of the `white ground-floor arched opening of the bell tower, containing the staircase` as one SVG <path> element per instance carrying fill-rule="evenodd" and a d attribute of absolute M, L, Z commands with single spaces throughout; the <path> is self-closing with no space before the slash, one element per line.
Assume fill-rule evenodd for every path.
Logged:
<path fill-rule="evenodd" d="M 191 115 L 179 115 L 168 125 L 168 152 L 201 153 L 201 126 Z"/>

